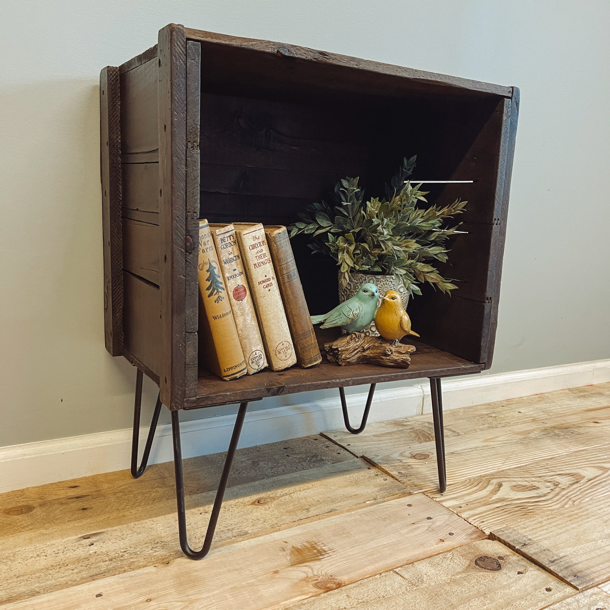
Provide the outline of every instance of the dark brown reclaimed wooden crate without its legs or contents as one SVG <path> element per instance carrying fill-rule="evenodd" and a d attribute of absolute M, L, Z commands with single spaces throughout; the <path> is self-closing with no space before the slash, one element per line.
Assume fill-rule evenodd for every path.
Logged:
<path fill-rule="evenodd" d="M 159 384 L 172 410 L 306 390 L 475 373 L 497 325 L 519 90 L 170 24 L 101 73 L 106 347 Z M 468 199 L 441 273 L 409 312 L 407 370 L 263 371 L 222 381 L 198 365 L 198 219 L 289 224 L 339 178 L 381 195 L 404 156 L 430 203 Z M 309 309 L 338 302 L 336 266 L 293 243 Z M 320 332 L 320 342 L 332 333 Z"/>

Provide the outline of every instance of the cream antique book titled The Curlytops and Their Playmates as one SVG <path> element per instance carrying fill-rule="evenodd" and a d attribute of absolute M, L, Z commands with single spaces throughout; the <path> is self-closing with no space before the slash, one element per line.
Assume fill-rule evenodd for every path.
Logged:
<path fill-rule="evenodd" d="M 271 262 L 265 230 L 260 223 L 233 223 L 243 265 L 252 289 L 260 334 L 272 371 L 296 364 L 295 348 Z"/>

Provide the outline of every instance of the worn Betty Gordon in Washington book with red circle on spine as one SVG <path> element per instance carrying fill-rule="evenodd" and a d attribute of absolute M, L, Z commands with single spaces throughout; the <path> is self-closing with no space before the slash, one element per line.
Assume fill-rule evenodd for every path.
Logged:
<path fill-rule="evenodd" d="M 267 366 L 267 358 L 242 255 L 237 245 L 237 235 L 232 224 L 210 223 L 210 230 L 223 270 L 224 285 L 233 310 L 248 375 L 252 375 Z"/>

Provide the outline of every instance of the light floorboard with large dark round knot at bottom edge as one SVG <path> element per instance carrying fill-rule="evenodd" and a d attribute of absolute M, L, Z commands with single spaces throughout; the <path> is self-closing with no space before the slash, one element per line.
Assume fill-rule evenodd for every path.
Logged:
<path fill-rule="evenodd" d="M 480 540 L 285 610 L 539 610 L 573 594 L 499 542 Z"/>

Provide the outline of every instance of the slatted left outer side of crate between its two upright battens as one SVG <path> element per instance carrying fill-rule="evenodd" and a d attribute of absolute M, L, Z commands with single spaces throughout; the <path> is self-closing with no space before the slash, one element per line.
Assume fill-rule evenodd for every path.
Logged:
<path fill-rule="evenodd" d="M 156 48 L 120 68 L 125 356 L 154 381 L 161 372 L 158 60 Z"/>

